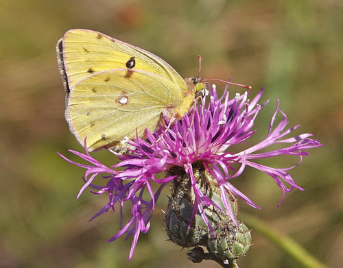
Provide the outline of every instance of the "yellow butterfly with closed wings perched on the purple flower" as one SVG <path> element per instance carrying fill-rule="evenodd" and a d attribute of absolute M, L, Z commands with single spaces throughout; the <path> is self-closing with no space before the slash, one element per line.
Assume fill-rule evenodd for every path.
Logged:
<path fill-rule="evenodd" d="M 87 138 L 88 151 L 154 132 L 163 112 L 181 119 L 204 87 L 200 77 L 183 80 L 158 56 L 91 30 L 69 30 L 56 51 L 65 118 L 81 145 Z"/>

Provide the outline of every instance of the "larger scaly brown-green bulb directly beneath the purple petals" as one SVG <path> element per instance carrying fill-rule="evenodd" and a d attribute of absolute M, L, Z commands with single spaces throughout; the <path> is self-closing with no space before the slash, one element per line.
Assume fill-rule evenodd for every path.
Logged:
<path fill-rule="evenodd" d="M 193 168 L 193 174 L 200 191 L 222 209 L 220 211 L 214 206 L 203 206 L 211 227 L 214 229 L 217 226 L 225 226 L 230 221 L 230 217 L 223 212 L 226 210 L 220 196 L 220 189 L 216 186 L 215 180 L 211 175 L 204 172 L 201 165 Z M 211 231 L 199 211 L 189 223 L 196 198 L 189 175 L 182 168 L 169 170 L 168 175 L 177 175 L 177 178 L 172 182 L 171 197 L 165 215 L 165 225 L 169 239 L 182 247 L 207 246 Z M 237 202 L 233 195 L 230 195 L 230 193 L 227 193 L 227 195 L 230 206 L 236 213 Z"/>

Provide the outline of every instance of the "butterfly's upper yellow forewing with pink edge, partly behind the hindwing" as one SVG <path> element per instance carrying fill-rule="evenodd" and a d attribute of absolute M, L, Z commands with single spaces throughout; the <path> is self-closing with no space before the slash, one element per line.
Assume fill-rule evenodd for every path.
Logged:
<path fill-rule="evenodd" d="M 65 73 L 69 88 L 92 73 L 116 68 L 126 68 L 134 58 L 135 70 L 161 75 L 187 91 L 185 81 L 167 62 L 154 54 L 134 47 L 105 34 L 86 29 L 71 29 L 57 47 L 60 71 Z"/>

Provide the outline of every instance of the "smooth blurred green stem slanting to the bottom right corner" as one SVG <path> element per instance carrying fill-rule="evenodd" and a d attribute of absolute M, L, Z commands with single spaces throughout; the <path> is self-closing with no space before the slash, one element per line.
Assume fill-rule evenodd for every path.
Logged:
<path fill-rule="evenodd" d="M 289 254 L 294 260 L 298 261 L 303 267 L 307 268 L 327 268 L 326 265 L 320 263 L 314 256 L 309 254 L 303 247 L 301 247 L 296 241 L 291 239 L 289 236 L 280 234 L 276 230 L 268 226 L 268 223 L 265 223 L 256 217 L 247 216 L 243 217 L 244 223 L 249 228 L 252 228 L 253 231 L 257 231 L 265 238 L 269 239 L 272 243 L 277 245 L 280 249 L 283 249 L 284 252 Z"/>

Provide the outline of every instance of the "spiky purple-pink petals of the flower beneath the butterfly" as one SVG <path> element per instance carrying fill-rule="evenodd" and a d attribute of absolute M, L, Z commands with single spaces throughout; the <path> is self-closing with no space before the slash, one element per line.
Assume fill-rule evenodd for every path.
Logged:
<path fill-rule="evenodd" d="M 311 134 L 285 138 L 287 134 L 298 128 L 298 125 L 286 128 L 287 117 L 279 110 L 279 101 L 263 141 L 241 151 L 231 150 L 233 145 L 244 143 L 255 134 L 254 121 L 259 110 L 268 102 L 266 101 L 262 105 L 257 103 L 262 93 L 263 90 L 251 101 L 248 99 L 248 93 L 237 94 L 230 98 L 229 93 L 225 91 L 222 97 L 218 97 L 217 90 L 213 85 L 209 96 L 204 97 L 200 101 L 200 105 L 191 110 L 180 121 L 169 125 L 168 119 L 165 118 L 165 125 L 169 125 L 169 129 L 166 130 L 166 126 L 161 125 L 154 134 L 147 131 L 146 139 L 127 140 L 130 145 L 128 152 L 126 154 L 113 152 L 120 162 L 112 167 L 107 167 L 98 162 L 88 154 L 88 151 L 85 154 L 71 151 L 88 161 L 87 165 L 73 162 L 62 156 L 67 161 L 86 169 L 85 184 L 79 195 L 88 187 L 91 188 L 92 193 L 108 194 L 108 203 L 92 219 L 110 209 L 115 210 L 117 208 L 115 204 L 119 204 L 121 228 L 108 241 L 114 241 L 124 234 L 126 234 L 126 239 L 133 236 L 129 259 L 132 258 L 139 234 L 149 230 L 150 219 L 163 187 L 176 179 L 176 175 L 170 172 L 175 167 L 183 169 L 189 176 L 194 195 L 193 212 L 189 219 L 189 226 L 198 213 L 208 226 L 211 235 L 215 234 L 204 212 L 206 207 L 212 206 L 220 210 L 228 215 L 236 226 L 239 225 L 235 218 L 235 212 L 230 206 L 227 193 L 243 199 L 244 202 L 254 208 L 259 208 L 232 183 L 234 178 L 241 175 L 246 166 L 266 173 L 276 182 L 283 191 L 281 203 L 286 192 L 292 191 L 293 188 L 303 190 L 288 173 L 288 170 L 293 169 L 296 165 L 274 168 L 255 162 L 261 158 L 295 155 L 299 156 L 298 164 L 300 164 L 302 156 L 307 156 L 306 149 L 321 146 L 318 141 L 309 138 L 312 136 Z M 276 123 L 276 114 L 281 114 L 282 119 L 279 123 Z M 259 152 L 276 143 L 282 144 L 281 149 Z M 84 147 L 86 148 L 86 146 Z M 224 206 L 219 206 L 204 191 L 201 191 L 193 173 L 194 165 L 199 163 L 201 163 L 204 171 L 213 178 Z M 166 178 L 161 179 L 156 176 L 164 172 L 167 174 Z M 101 175 L 107 181 L 106 186 L 99 186 L 93 182 L 97 175 Z M 153 191 L 152 184 L 159 185 L 157 191 Z M 148 198 L 146 198 L 146 194 L 143 197 L 145 192 L 149 193 Z M 131 207 L 131 218 L 127 223 L 123 223 L 123 206 Z"/>

